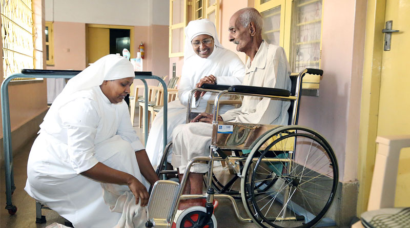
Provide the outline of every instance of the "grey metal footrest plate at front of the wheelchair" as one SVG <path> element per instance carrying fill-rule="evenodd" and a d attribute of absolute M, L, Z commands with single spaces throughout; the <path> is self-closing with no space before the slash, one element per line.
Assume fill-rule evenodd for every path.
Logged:
<path fill-rule="evenodd" d="M 171 210 L 174 209 L 179 183 L 171 180 L 158 180 L 155 182 L 150 200 L 148 202 L 149 220 L 167 220 Z"/>

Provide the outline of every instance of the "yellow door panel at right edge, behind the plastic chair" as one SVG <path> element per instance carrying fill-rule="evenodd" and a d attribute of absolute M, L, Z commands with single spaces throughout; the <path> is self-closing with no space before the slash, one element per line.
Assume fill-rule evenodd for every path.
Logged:
<path fill-rule="evenodd" d="M 383 51 L 377 135 L 410 134 L 410 4 L 408 0 L 387 0 L 385 22 L 393 20 L 391 50 Z M 382 47 L 381 47 L 382 48 Z M 400 155 L 396 185 L 396 206 L 409 206 L 410 148 Z"/>

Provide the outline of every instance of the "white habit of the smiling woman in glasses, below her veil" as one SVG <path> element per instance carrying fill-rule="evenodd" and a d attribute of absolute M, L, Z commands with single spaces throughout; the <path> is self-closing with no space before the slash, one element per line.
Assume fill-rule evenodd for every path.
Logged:
<path fill-rule="evenodd" d="M 179 100 L 168 103 L 167 142 L 172 140 L 171 134 L 174 128 L 181 123 L 185 123 L 188 97 L 191 90 L 196 88 L 196 84 L 201 78 L 210 74 L 216 76 L 218 84 L 220 85 L 240 85 L 245 74 L 245 69 L 242 61 L 235 53 L 218 47 L 214 48 L 214 51 L 208 58 L 201 58 L 198 55 L 194 55 L 187 59 L 182 67 L 182 76 L 178 90 Z M 226 97 L 226 99 L 228 98 L 229 97 Z M 204 112 L 207 107 L 207 101 L 210 99 L 215 99 L 215 95 L 206 93 L 198 99 L 198 106 L 193 108 L 192 112 Z M 224 113 L 233 108 L 231 105 L 221 106 L 220 113 Z M 146 144 L 146 151 L 154 168 L 161 160 L 163 153 L 162 148 L 163 109 L 158 112 L 152 123 Z M 169 161 L 171 161 L 171 157 L 169 158 Z"/>

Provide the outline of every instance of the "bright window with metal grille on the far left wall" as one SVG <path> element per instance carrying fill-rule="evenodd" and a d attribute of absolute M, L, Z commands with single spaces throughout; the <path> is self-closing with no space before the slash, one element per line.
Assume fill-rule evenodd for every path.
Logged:
<path fill-rule="evenodd" d="M 32 0 L 0 1 L 4 77 L 34 68 Z"/>

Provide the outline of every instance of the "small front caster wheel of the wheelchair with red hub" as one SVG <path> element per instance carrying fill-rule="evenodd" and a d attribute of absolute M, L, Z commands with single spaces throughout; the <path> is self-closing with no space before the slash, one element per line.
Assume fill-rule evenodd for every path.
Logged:
<path fill-rule="evenodd" d="M 203 206 L 193 206 L 185 211 L 183 211 L 176 222 L 177 228 L 188 228 L 188 227 L 198 227 L 201 220 L 207 216 L 207 209 Z M 212 215 L 211 219 L 207 224 L 203 226 L 204 228 L 217 228 L 216 218 Z"/>

